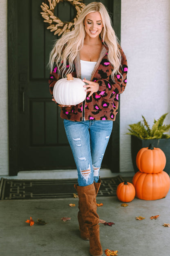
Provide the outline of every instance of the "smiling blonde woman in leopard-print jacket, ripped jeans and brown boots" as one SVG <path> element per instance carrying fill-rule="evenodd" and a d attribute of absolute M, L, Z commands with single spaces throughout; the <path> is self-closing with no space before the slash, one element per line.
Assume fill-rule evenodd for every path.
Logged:
<path fill-rule="evenodd" d="M 89 240 L 92 256 L 101 256 L 96 213 L 96 195 L 101 185 L 99 170 L 128 71 L 126 57 L 101 2 L 92 2 L 83 9 L 75 30 L 56 41 L 49 63 L 51 95 L 56 81 L 66 74 L 72 73 L 86 83 L 84 102 L 59 106 L 78 171 L 78 185 L 74 187 L 79 198 L 81 238 Z"/>

